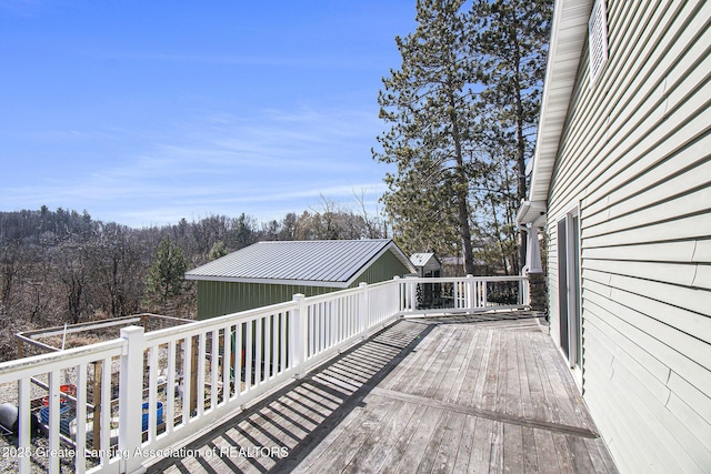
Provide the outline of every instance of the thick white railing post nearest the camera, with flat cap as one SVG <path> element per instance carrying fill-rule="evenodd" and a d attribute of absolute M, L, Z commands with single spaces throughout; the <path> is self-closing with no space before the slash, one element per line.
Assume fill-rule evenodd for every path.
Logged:
<path fill-rule="evenodd" d="M 129 326 L 121 330 L 126 340 L 121 353 L 119 391 L 119 452 L 121 472 L 141 471 L 141 456 L 136 455 L 141 447 L 143 405 L 143 327 Z"/>

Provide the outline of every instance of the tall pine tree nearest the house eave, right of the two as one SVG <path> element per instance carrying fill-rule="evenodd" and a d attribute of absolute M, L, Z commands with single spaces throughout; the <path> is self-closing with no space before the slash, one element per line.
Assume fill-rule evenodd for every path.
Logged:
<path fill-rule="evenodd" d="M 551 17 L 552 0 L 475 0 L 468 16 L 483 85 L 478 99 L 482 139 L 515 172 L 515 201 L 502 203 L 504 209 L 518 208 L 528 194 L 525 163 L 533 154 Z M 514 224 L 509 219 L 508 233 Z M 525 234 L 520 238 L 518 261 L 510 265 L 515 271 L 525 262 Z"/>

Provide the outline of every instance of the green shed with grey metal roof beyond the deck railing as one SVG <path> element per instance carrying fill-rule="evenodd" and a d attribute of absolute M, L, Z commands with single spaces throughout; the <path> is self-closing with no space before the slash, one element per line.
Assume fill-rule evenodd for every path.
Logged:
<path fill-rule="evenodd" d="M 186 273 L 198 319 L 230 314 L 414 273 L 390 239 L 258 242 Z"/>

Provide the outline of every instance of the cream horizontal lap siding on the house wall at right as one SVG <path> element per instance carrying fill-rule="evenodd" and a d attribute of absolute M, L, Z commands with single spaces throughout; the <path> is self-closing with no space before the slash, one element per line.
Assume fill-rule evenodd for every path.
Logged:
<path fill-rule="evenodd" d="M 587 48 L 548 196 L 580 211 L 582 390 L 622 472 L 711 467 L 711 2 L 608 0 L 609 60 Z"/>

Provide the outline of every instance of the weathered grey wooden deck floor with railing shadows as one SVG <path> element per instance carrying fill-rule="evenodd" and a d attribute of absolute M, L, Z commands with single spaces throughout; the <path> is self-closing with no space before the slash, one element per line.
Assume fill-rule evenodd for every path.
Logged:
<path fill-rule="evenodd" d="M 529 313 L 400 320 L 149 472 L 617 472 Z"/>

